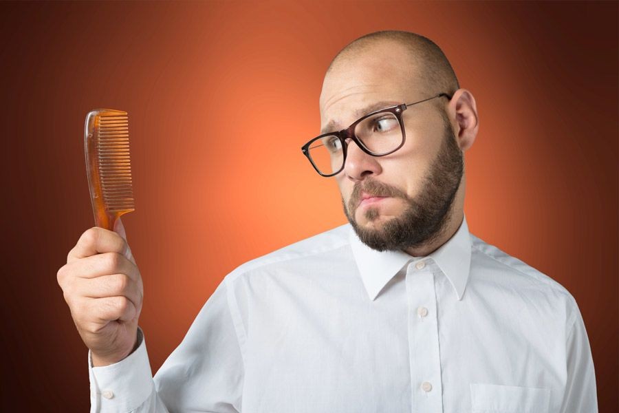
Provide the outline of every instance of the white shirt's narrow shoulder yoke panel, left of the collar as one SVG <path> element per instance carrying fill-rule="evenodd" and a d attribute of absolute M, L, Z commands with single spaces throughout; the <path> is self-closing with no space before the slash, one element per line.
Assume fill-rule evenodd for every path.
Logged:
<path fill-rule="evenodd" d="M 285 264 L 287 262 L 298 262 L 305 259 L 314 259 L 318 255 L 333 253 L 339 248 L 349 245 L 350 224 L 337 226 L 334 229 L 319 233 L 305 240 L 294 242 L 279 248 L 272 253 L 268 253 L 254 260 L 250 260 L 234 271 L 226 275 L 224 281 L 235 282 L 242 275 L 253 273 L 261 269 Z"/>

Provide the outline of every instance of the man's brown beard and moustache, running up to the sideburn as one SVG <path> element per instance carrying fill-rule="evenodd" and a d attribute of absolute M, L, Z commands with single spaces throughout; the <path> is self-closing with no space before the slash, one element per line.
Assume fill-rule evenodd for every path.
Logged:
<path fill-rule="evenodd" d="M 422 191 L 415 198 L 410 198 L 398 188 L 367 178 L 355 184 L 348 207 L 342 199 L 346 218 L 361 242 L 370 248 L 377 251 L 419 248 L 436 240 L 445 230 L 464 173 L 464 157 L 445 114 L 442 116 L 444 133 L 441 148 L 424 178 Z M 400 216 L 385 222 L 379 229 L 362 228 L 354 218 L 362 192 L 400 198 L 406 202 L 406 208 Z M 376 208 L 370 207 L 365 212 L 369 222 L 379 215 Z"/>

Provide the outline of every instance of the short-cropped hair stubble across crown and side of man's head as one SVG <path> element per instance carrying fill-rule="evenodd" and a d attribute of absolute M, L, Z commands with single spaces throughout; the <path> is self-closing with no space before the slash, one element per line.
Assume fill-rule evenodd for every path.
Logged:
<path fill-rule="evenodd" d="M 455 72 L 436 43 L 420 34 L 397 30 L 373 32 L 352 41 L 335 56 L 327 75 L 382 43 L 398 43 L 406 50 L 410 66 L 403 69 L 411 73 L 411 82 L 417 83 L 418 89 L 430 94 L 453 94 L 459 89 Z"/>

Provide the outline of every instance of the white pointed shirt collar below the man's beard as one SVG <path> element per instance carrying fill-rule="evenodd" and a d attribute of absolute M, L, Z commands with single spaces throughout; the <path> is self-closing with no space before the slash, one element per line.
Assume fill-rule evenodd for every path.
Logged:
<path fill-rule="evenodd" d="M 373 250 L 359 240 L 352 227 L 349 237 L 363 285 L 372 301 L 405 264 L 428 257 L 443 271 L 458 299 L 462 299 L 470 270 L 470 235 L 466 217 L 463 217 L 456 233 L 427 257 L 413 257 L 404 251 Z"/>

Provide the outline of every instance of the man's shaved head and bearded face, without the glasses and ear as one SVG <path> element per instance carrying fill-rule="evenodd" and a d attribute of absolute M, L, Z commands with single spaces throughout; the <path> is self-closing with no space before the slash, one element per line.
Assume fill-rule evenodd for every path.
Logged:
<path fill-rule="evenodd" d="M 371 33 L 349 43 L 329 65 L 321 121 L 343 129 L 355 120 L 352 113 L 373 101 L 409 103 L 442 93 L 453 98 L 466 94 L 466 100 L 470 94 L 463 91 L 431 40 L 410 32 Z M 459 226 L 463 150 L 472 140 L 456 136 L 459 119 L 448 103 L 448 98 L 437 98 L 404 111 L 404 145 L 387 156 L 369 156 L 348 142 L 345 167 L 336 180 L 344 213 L 369 247 L 425 255 Z M 368 197 L 381 202 L 365 205 Z"/>

